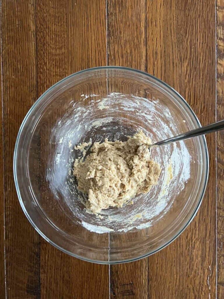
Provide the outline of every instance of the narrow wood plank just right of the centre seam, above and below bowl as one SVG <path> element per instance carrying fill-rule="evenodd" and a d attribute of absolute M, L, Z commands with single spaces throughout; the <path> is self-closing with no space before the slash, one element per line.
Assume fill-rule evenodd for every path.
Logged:
<path fill-rule="evenodd" d="M 145 71 L 145 1 L 108 0 L 108 65 Z M 110 266 L 111 298 L 148 298 L 148 262 Z"/>

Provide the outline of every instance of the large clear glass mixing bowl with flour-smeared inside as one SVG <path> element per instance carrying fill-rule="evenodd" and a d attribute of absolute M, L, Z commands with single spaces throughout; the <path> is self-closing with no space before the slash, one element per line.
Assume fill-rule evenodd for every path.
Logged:
<path fill-rule="evenodd" d="M 162 168 L 158 185 L 99 216 L 87 213 L 77 190 L 74 146 L 124 141 L 139 129 L 154 143 L 199 126 L 186 101 L 146 73 L 100 67 L 73 74 L 36 101 L 19 130 L 14 177 L 22 209 L 45 240 L 83 260 L 120 263 L 153 254 L 197 213 L 208 179 L 205 137 L 151 149 Z"/>

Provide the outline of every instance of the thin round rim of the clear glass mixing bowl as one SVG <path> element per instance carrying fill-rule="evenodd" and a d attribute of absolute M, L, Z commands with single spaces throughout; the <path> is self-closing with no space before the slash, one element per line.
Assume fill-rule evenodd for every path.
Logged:
<path fill-rule="evenodd" d="M 187 228 L 187 226 L 191 223 L 191 221 L 194 219 L 195 215 L 197 214 L 200 205 L 202 203 L 202 199 L 204 197 L 205 194 L 205 190 L 207 187 L 207 183 L 208 183 L 208 176 L 209 176 L 209 155 L 208 155 L 208 147 L 207 147 L 207 143 L 206 143 L 206 139 L 205 139 L 205 135 L 201 135 L 202 136 L 202 140 L 203 140 L 203 144 L 204 144 L 204 148 L 205 148 L 205 158 L 206 158 L 206 165 L 205 165 L 205 182 L 204 182 L 204 186 L 202 189 L 202 192 L 200 194 L 200 198 L 198 200 L 197 206 L 194 209 L 194 211 L 192 212 L 191 216 L 189 217 L 188 221 L 185 223 L 185 225 L 183 226 L 182 229 L 180 229 L 178 231 L 178 233 L 171 238 L 169 241 L 167 241 L 164 245 L 160 246 L 159 248 L 155 249 L 154 251 L 148 252 L 146 254 L 143 254 L 141 256 L 138 257 L 134 257 L 131 259 L 125 259 L 125 260 L 117 260 L 117 261 L 110 261 L 108 259 L 108 261 L 99 261 L 99 260 L 91 260 L 82 256 L 79 256 L 77 254 L 72 253 L 71 251 L 68 251 L 64 248 L 62 248 L 61 246 L 57 245 L 56 243 L 54 243 L 53 241 L 51 241 L 37 226 L 36 224 L 33 222 L 33 220 L 31 219 L 31 217 L 29 216 L 29 213 L 27 212 L 23 200 L 22 200 L 22 196 L 19 190 L 19 185 L 18 185 L 18 181 L 17 181 L 17 171 L 16 171 L 16 158 L 17 158 L 17 151 L 18 151 L 18 144 L 19 144 L 19 140 L 20 140 L 20 136 L 22 133 L 22 130 L 24 128 L 24 125 L 27 121 L 27 119 L 29 118 L 31 112 L 33 111 L 33 109 L 39 104 L 39 102 L 42 100 L 42 98 L 44 98 L 50 91 L 52 91 L 56 86 L 60 85 L 61 83 L 63 83 L 64 81 L 66 81 L 68 78 L 74 77 L 78 74 L 82 74 L 85 72 L 89 72 L 89 71 L 94 71 L 94 70 L 103 70 L 103 69 L 119 69 L 119 70 L 126 70 L 126 71 L 132 71 L 135 72 L 137 74 L 143 74 L 149 78 L 152 78 L 154 80 L 156 80 L 157 82 L 159 82 L 160 84 L 162 84 L 163 86 L 165 86 L 167 89 L 171 90 L 174 94 L 177 95 L 177 97 L 179 97 L 179 99 L 185 104 L 185 106 L 188 108 L 189 112 L 192 114 L 192 116 L 194 117 L 194 119 L 196 120 L 197 124 L 199 127 L 201 127 L 200 121 L 197 118 L 196 114 L 194 113 L 194 111 L 192 110 L 191 106 L 187 103 L 187 101 L 174 89 L 172 88 L 170 85 L 168 85 L 167 83 L 165 83 L 164 81 L 158 79 L 157 77 L 148 74 L 144 71 L 140 71 L 134 68 L 128 68 L 128 67 L 123 67 L 123 66 L 100 66 L 100 67 L 94 67 L 94 68 L 87 68 L 81 71 L 78 71 L 76 73 L 70 74 L 69 76 L 63 78 L 62 80 L 58 81 L 57 83 L 55 83 L 54 85 L 52 85 L 49 89 L 47 89 L 37 100 L 36 102 L 31 106 L 31 108 L 29 109 L 29 111 L 27 112 L 26 116 L 24 117 L 22 124 L 19 128 L 19 132 L 16 138 L 16 144 L 15 144 L 15 149 L 14 149 L 14 155 L 13 155 L 13 175 L 14 175 L 14 181 L 15 181 L 15 186 L 16 186 L 16 192 L 17 192 L 17 196 L 19 198 L 19 203 L 22 207 L 22 210 L 25 214 L 25 216 L 27 217 L 27 219 L 29 220 L 29 222 L 31 223 L 31 225 L 35 228 L 35 230 L 41 235 L 41 237 L 43 237 L 47 242 L 49 242 L 51 245 L 55 246 L 56 248 L 58 248 L 59 250 L 65 252 L 66 254 L 69 254 L 73 257 L 79 258 L 81 260 L 85 260 L 88 262 L 92 262 L 92 263 L 98 263 L 98 264 L 118 264 L 118 263 L 127 263 L 127 262 L 132 262 L 132 261 L 136 261 L 136 260 L 140 260 L 144 257 L 148 257 L 160 250 L 162 250 L 163 248 L 165 248 L 166 246 L 168 246 L 169 244 L 171 244 L 177 237 L 179 237 L 180 234 L 182 234 L 182 232 Z M 110 233 L 108 233 L 110 234 Z M 108 249 L 108 257 L 110 258 L 110 254 L 109 254 L 109 250 Z"/>

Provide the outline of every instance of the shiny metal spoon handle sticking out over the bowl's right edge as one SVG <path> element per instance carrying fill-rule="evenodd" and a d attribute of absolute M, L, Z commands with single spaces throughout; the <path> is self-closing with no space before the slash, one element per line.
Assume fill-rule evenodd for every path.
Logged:
<path fill-rule="evenodd" d="M 177 135 L 172 138 L 168 138 L 166 140 L 159 141 L 157 143 L 152 144 L 151 147 L 188 139 L 188 138 L 195 137 L 195 136 L 202 135 L 202 134 L 208 134 L 208 133 L 219 131 L 222 129 L 224 129 L 224 120 L 220 120 L 220 121 L 217 121 L 216 123 L 211 123 L 210 125 L 207 125 L 207 126 L 204 126 L 204 127 L 192 130 L 192 131 L 185 132 L 181 135 Z"/>

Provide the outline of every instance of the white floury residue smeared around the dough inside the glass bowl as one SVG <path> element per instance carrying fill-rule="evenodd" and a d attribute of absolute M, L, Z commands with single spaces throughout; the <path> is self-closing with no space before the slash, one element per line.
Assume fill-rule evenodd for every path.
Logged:
<path fill-rule="evenodd" d="M 96 99 L 93 96 L 97 96 Z M 149 193 L 136 196 L 132 205 L 102 210 L 98 216 L 85 209 L 87 197 L 77 190 L 72 166 L 82 153 L 74 147 L 86 142 L 88 153 L 91 142 L 103 142 L 105 138 L 124 141 L 139 129 L 154 143 L 180 133 L 175 129 L 174 115 L 156 99 L 119 93 L 111 93 L 103 99 L 99 99 L 99 95 L 83 94 L 82 98 L 88 98 L 88 104 L 74 102 L 52 130 L 50 142 L 56 144 L 55 157 L 53 169 L 46 173 L 51 191 L 69 208 L 70 217 L 89 231 L 127 232 L 153 225 L 165 215 L 190 178 L 191 156 L 184 141 L 151 149 L 151 156 L 162 171 L 158 185 Z"/>

